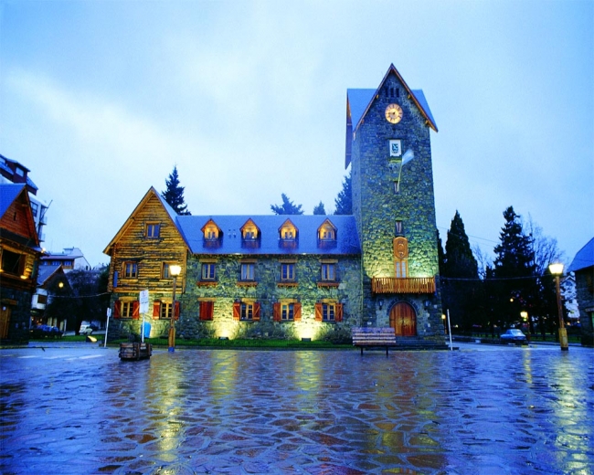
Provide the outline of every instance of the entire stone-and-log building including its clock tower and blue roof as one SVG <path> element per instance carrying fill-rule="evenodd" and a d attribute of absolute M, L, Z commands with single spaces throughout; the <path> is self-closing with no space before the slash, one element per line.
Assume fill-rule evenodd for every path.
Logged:
<path fill-rule="evenodd" d="M 430 151 L 422 91 L 390 66 L 374 90 L 347 91 L 352 216 L 176 216 L 151 188 L 111 240 L 113 335 L 152 336 L 172 312 L 186 338 L 312 338 L 353 326 L 443 340 Z M 182 274 L 173 306 L 169 266 Z M 134 303 L 136 302 L 136 303 Z"/>

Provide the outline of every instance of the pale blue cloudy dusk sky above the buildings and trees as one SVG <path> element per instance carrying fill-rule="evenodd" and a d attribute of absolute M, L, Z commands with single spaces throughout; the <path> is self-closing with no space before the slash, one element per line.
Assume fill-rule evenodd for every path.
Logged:
<path fill-rule="evenodd" d="M 493 257 L 507 206 L 594 237 L 594 2 L 0 0 L 0 153 L 91 265 L 177 165 L 193 215 L 334 212 L 349 88 L 425 93 L 437 225 Z"/>

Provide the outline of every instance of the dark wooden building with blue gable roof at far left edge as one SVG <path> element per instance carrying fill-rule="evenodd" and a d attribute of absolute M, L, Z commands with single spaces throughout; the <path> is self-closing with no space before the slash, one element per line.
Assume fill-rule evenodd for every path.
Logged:
<path fill-rule="evenodd" d="M 0 340 L 28 341 L 41 256 L 25 184 L 0 184 Z"/>

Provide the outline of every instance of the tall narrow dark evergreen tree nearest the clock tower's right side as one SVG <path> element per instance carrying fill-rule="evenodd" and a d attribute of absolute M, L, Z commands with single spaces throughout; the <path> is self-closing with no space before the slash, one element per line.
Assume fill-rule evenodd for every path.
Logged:
<path fill-rule="evenodd" d="M 479 272 L 458 211 L 448 231 L 442 281 L 441 300 L 451 312 L 451 322 L 471 331 L 472 324 L 478 322 Z"/>

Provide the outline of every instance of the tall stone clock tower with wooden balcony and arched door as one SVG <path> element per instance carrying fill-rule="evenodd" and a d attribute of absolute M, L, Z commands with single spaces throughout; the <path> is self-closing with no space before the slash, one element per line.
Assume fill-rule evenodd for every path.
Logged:
<path fill-rule="evenodd" d="M 347 91 L 361 324 L 442 342 L 431 130 L 437 126 L 423 91 L 411 90 L 394 65 L 377 89 Z"/>

